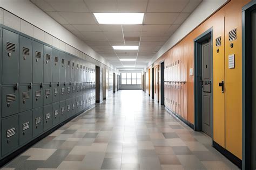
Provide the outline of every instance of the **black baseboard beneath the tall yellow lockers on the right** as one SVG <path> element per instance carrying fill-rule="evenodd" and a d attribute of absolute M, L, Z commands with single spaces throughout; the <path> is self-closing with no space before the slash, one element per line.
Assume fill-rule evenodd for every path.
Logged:
<path fill-rule="evenodd" d="M 234 141 L 235 142 L 235 141 Z M 220 146 L 218 143 L 213 141 L 213 147 L 223 154 L 228 160 L 233 162 L 234 165 L 237 165 L 240 169 L 242 168 L 242 160 L 236 157 L 233 153 L 226 150 L 224 147 Z"/>

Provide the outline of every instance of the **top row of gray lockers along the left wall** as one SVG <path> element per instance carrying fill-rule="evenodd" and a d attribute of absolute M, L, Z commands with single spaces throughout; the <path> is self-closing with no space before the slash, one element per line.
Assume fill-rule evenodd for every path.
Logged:
<path fill-rule="evenodd" d="M 95 81 L 95 66 L 91 63 L 15 32 L 0 30 L 2 84 Z"/>

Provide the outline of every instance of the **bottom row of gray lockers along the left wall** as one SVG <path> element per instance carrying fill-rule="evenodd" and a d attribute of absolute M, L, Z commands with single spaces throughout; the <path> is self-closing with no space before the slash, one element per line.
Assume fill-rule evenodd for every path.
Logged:
<path fill-rule="evenodd" d="M 95 93 L 90 93 L 3 118 L 2 157 L 94 103 Z"/>

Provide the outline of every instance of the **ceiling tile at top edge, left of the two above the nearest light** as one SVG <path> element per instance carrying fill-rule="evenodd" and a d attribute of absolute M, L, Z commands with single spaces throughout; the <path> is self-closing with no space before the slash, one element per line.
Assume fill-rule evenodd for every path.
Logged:
<path fill-rule="evenodd" d="M 83 0 L 44 0 L 59 12 L 88 12 Z"/>

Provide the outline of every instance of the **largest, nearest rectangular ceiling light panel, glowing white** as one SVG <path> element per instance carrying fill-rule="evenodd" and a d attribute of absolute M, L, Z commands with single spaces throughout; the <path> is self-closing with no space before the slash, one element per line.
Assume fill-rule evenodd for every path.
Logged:
<path fill-rule="evenodd" d="M 142 24 L 144 13 L 93 13 L 99 24 Z"/>

